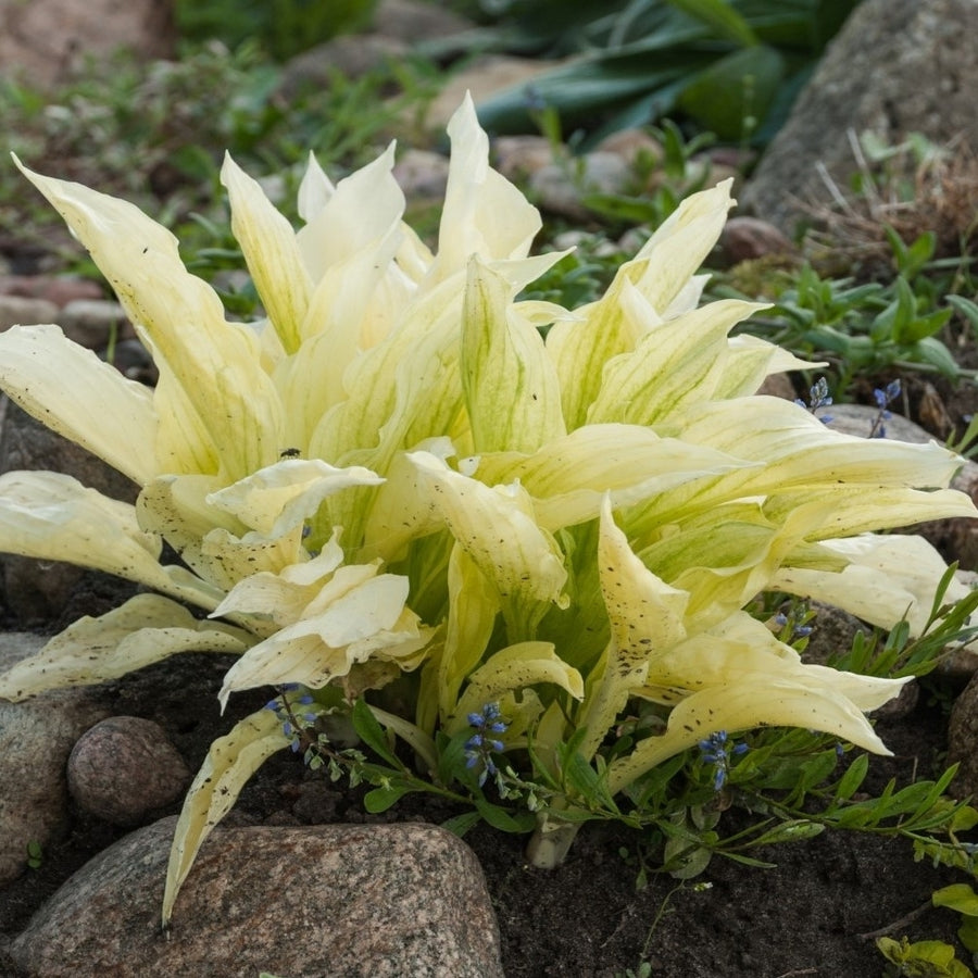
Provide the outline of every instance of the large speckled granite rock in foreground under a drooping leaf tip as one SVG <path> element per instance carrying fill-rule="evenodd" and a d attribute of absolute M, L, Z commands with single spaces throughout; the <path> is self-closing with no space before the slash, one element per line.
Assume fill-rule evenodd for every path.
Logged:
<path fill-rule="evenodd" d="M 175 818 L 96 856 L 11 944 L 28 978 L 502 978 L 481 869 L 430 825 L 218 828 L 166 939 Z"/>

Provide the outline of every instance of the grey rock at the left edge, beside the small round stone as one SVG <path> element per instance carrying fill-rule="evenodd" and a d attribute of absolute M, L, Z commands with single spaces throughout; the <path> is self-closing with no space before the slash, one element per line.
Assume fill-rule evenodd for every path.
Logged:
<path fill-rule="evenodd" d="M 0 632 L 0 672 L 33 655 L 45 639 Z M 0 886 L 27 868 L 27 844 L 46 847 L 67 818 L 64 765 L 78 737 L 109 714 L 92 689 L 0 700 Z"/>

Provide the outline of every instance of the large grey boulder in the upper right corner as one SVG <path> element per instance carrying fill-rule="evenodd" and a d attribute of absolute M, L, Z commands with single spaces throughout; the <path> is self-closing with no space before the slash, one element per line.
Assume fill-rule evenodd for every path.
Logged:
<path fill-rule="evenodd" d="M 978 148 L 978 0 L 864 0 L 826 54 L 749 184 L 744 209 L 792 231 L 804 204 L 831 203 L 857 171 L 849 139 L 872 130 L 891 145 L 910 133 L 962 134 Z"/>

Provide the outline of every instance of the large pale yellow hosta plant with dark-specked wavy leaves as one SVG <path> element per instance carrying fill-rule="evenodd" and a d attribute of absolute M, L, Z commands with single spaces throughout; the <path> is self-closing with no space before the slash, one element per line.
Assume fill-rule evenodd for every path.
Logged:
<path fill-rule="evenodd" d="M 471 101 L 449 134 L 434 252 L 402 222 L 392 148 L 336 186 L 311 160 L 298 231 L 226 160 L 266 314 L 252 323 L 229 322 L 137 209 L 24 171 L 160 380 L 123 378 L 57 326 L 0 336 L 3 390 L 140 487 L 129 505 L 65 475 L 7 473 L 0 549 L 146 586 L 0 676 L 0 695 L 183 651 L 239 656 L 222 704 L 278 693 L 191 786 L 164 919 L 296 724 L 352 715 L 442 786 L 481 790 L 503 764 L 542 779 L 540 864 L 586 814 L 575 785 L 647 804 L 664 765 L 698 744 L 726 763 L 738 731 L 793 726 L 885 753 L 866 713 L 905 679 L 805 664 L 747 609 L 780 592 L 920 630 L 945 567 L 917 537 L 873 531 L 973 515 L 946 488 L 958 457 L 937 444 L 849 437 L 755 396 L 799 363 L 728 337 L 756 305 L 699 304 L 729 183 L 686 200 L 599 301 L 564 309 L 519 299 L 561 255 L 529 254 L 538 214 L 490 167 Z M 178 564 L 161 563 L 164 542 Z M 622 740 L 636 703 L 655 723 Z"/>

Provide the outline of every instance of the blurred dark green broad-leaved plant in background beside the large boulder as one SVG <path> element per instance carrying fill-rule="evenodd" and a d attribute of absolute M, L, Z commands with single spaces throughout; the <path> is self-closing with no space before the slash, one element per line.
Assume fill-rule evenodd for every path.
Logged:
<path fill-rule="evenodd" d="M 619 128 L 697 118 L 722 138 L 766 143 L 790 111 L 825 45 L 860 0 L 618 0 L 514 7 L 515 28 L 482 32 L 505 49 L 574 55 L 530 86 L 487 99 L 479 117 L 497 131 L 528 131 L 541 106 L 587 148 Z"/>

